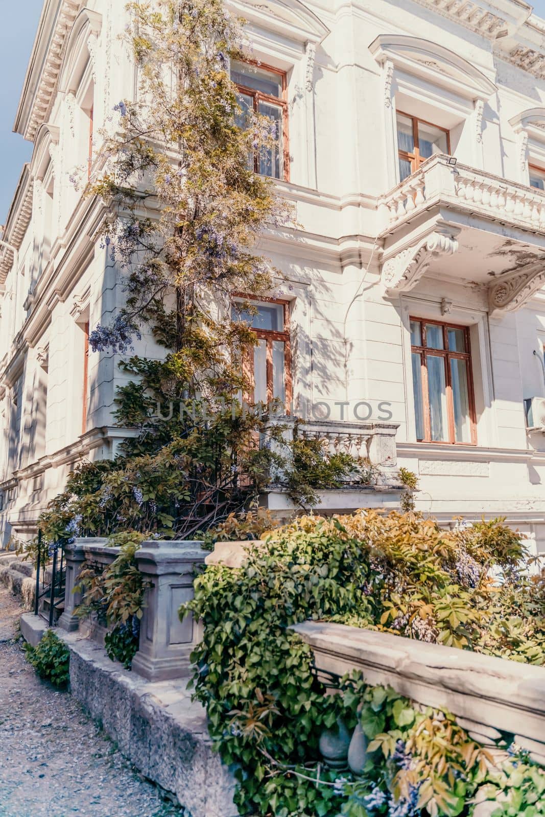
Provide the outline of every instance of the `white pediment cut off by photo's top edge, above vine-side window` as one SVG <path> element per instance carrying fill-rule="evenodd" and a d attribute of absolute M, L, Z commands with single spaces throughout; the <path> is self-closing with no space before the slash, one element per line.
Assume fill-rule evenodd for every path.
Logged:
<path fill-rule="evenodd" d="M 321 42 L 329 33 L 301 0 L 228 0 L 228 5 L 249 23 L 297 42 Z"/>

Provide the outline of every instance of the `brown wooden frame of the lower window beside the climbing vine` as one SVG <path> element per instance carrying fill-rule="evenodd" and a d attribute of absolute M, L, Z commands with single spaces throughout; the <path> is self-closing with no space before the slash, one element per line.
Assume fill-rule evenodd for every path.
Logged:
<path fill-rule="evenodd" d="M 243 295 L 239 292 L 235 293 L 234 298 L 240 298 L 237 303 L 248 301 L 256 306 L 260 303 L 279 304 L 284 306 L 284 330 L 282 332 L 273 332 L 270 329 L 252 329 L 258 341 L 266 341 L 266 383 L 267 383 L 267 404 L 272 403 L 273 398 L 273 341 L 284 342 L 284 391 L 286 392 L 286 413 L 290 413 L 290 406 L 293 399 L 293 377 L 292 377 L 292 342 L 291 342 L 291 315 L 290 304 L 291 301 L 285 301 L 283 298 L 271 297 L 256 297 L 255 295 Z M 253 403 L 253 388 L 255 385 L 254 377 L 254 350 L 255 346 L 248 349 L 243 356 L 243 374 L 252 384 L 252 395 L 244 395 L 248 402 Z"/>

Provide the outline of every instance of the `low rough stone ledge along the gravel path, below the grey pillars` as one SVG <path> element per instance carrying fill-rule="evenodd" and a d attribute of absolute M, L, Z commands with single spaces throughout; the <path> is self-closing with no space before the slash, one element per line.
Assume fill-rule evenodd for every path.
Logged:
<path fill-rule="evenodd" d="M 145 777 L 172 792 L 190 817 L 238 817 L 235 779 L 212 751 L 206 714 L 187 678 L 145 681 L 77 632 L 56 629 L 70 650 L 70 688 Z"/>

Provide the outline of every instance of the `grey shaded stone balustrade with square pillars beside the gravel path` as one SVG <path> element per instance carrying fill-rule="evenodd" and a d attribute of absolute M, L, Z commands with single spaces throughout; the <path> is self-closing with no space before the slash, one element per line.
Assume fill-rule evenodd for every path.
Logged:
<path fill-rule="evenodd" d="M 59 626 L 68 631 L 77 630 L 80 619 L 75 608 L 81 604 L 78 576 L 83 565 L 104 570 L 119 553 L 118 547 L 109 547 L 107 539 L 78 538 L 65 546 L 66 593 L 65 611 Z M 145 586 L 144 615 L 141 619 L 140 644 L 132 662 L 132 669 L 149 681 L 188 676 L 190 654 L 200 640 L 199 623 L 191 615 L 183 622 L 178 609 L 193 598 L 194 569 L 202 565 L 208 551 L 201 542 L 149 541 L 142 542 L 136 551 L 136 564 Z M 91 636 L 104 641 L 105 627 L 93 622 Z"/>

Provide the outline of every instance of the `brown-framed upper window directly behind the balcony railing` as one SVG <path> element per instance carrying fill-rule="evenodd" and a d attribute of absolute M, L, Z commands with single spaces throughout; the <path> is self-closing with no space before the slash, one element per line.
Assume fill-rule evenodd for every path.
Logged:
<path fill-rule="evenodd" d="M 397 150 L 400 161 L 400 181 L 418 170 L 427 158 L 450 153 L 450 135 L 439 127 L 410 114 L 397 112 Z"/>

